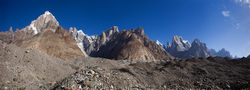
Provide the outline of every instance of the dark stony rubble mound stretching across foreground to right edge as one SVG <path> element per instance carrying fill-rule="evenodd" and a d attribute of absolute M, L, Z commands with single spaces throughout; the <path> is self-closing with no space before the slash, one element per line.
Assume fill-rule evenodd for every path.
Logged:
<path fill-rule="evenodd" d="M 88 59 L 79 61 L 89 62 Z M 132 64 L 96 59 L 91 62 L 95 63 L 83 65 L 74 74 L 47 87 L 55 90 L 250 89 L 249 59 L 209 57 Z"/>

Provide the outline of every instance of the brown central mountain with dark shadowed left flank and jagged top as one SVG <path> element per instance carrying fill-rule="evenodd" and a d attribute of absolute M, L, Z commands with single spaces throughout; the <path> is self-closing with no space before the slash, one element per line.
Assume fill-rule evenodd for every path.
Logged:
<path fill-rule="evenodd" d="M 115 33 L 96 55 L 110 59 L 145 61 L 172 58 L 161 46 L 150 40 L 141 27 Z"/>

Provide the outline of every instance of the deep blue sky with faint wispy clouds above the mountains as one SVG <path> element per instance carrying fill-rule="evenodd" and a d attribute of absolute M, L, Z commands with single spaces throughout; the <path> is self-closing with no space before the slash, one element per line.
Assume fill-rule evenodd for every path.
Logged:
<path fill-rule="evenodd" d="M 249 0 L 0 0 L 0 30 L 24 28 L 46 10 L 64 28 L 89 35 L 114 25 L 120 30 L 142 26 L 163 44 L 179 35 L 233 55 L 250 54 Z"/>

